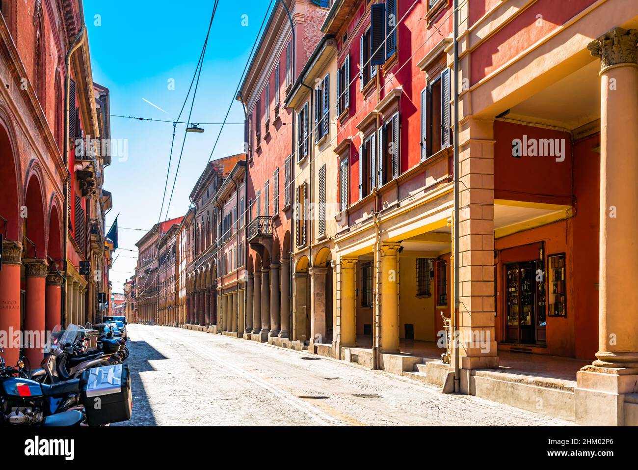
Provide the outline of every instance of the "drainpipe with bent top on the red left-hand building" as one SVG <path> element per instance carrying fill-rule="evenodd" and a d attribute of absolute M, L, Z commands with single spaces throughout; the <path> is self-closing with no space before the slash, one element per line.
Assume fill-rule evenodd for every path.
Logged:
<path fill-rule="evenodd" d="M 66 66 L 66 77 L 64 77 L 64 140 L 62 158 L 66 169 L 64 179 L 64 286 L 61 292 L 60 322 L 64 328 L 66 326 L 66 281 L 67 281 L 67 260 L 69 251 L 69 183 L 71 173 L 69 172 L 69 106 L 71 101 L 71 56 L 83 43 L 86 38 L 86 27 L 82 26 L 80 32 L 75 36 L 73 43 L 66 52 L 64 64 Z"/>

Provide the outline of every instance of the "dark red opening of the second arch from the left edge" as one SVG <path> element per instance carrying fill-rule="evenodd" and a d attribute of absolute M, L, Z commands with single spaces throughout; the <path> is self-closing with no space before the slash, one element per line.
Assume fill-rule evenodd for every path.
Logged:
<path fill-rule="evenodd" d="M 33 160 L 32 160 L 33 162 Z M 29 238 L 31 243 L 26 246 L 27 257 L 44 257 L 46 253 L 46 224 L 45 224 L 45 208 L 44 208 L 44 192 L 40 183 L 40 176 L 37 165 L 33 165 L 32 171 L 29 172 L 26 180 L 26 192 L 24 194 L 24 205 L 27 208 L 24 221 L 24 235 Z M 35 252 L 33 252 L 35 248 Z"/>

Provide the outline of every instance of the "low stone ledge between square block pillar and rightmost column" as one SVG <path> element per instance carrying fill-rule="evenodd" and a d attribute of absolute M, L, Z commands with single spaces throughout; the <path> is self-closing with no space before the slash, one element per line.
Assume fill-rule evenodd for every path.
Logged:
<path fill-rule="evenodd" d="M 499 369 L 473 370 L 468 379 L 471 395 L 563 420 L 575 420 L 575 381 Z M 465 388 L 464 384 L 461 388 Z"/>

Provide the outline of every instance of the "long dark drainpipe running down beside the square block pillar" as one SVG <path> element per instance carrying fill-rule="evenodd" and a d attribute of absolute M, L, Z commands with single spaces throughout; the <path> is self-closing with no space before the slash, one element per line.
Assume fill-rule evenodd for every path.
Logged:
<path fill-rule="evenodd" d="M 461 370 L 459 367 L 459 342 L 457 331 L 459 326 L 459 0 L 454 0 L 454 393 L 461 390 Z"/>

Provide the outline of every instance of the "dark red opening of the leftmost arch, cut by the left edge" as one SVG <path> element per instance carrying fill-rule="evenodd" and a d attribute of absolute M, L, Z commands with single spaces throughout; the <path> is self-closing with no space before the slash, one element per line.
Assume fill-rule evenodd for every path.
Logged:
<path fill-rule="evenodd" d="M 11 240 L 20 241 L 22 225 L 20 224 L 20 206 L 22 206 L 21 181 L 18 178 L 19 161 L 15 149 L 13 129 L 6 119 L 4 106 L 0 105 L 0 187 L 3 195 L 0 197 L 0 233 Z"/>

